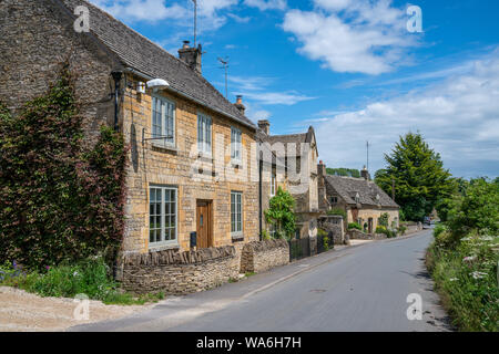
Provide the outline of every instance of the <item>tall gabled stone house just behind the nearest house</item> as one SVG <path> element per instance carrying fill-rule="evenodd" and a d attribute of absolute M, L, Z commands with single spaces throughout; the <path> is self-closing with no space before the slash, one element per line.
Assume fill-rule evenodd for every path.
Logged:
<path fill-rule="evenodd" d="M 296 237 L 317 235 L 318 208 L 317 158 L 318 149 L 314 128 L 306 133 L 271 135 L 269 122 L 258 121 L 262 140 L 272 146 L 277 160 L 284 162 L 286 186 L 296 200 Z"/>

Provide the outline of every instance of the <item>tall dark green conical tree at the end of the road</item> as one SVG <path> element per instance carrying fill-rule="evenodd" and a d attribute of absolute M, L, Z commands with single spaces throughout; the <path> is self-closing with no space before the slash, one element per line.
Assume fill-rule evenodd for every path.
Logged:
<path fill-rule="evenodd" d="M 408 220 L 422 220 L 438 200 L 457 189 L 440 154 L 419 133 L 400 136 L 391 154 L 385 154 L 385 160 L 387 166 L 376 173 L 375 181 L 388 195 L 395 181 L 395 201 Z"/>

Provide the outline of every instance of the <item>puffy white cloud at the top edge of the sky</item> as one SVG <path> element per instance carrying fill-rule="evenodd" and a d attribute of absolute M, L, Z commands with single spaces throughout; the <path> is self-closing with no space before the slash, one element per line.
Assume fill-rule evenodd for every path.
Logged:
<path fill-rule="evenodd" d="M 417 37 L 390 0 L 315 0 L 313 11 L 289 10 L 283 29 L 302 43 L 298 52 L 336 72 L 380 74 L 407 61 Z"/>

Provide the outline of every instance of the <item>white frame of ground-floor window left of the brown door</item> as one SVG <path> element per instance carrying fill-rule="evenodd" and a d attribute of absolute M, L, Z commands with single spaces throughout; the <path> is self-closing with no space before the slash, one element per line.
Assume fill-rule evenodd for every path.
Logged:
<path fill-rule="evenodd" d="M 160 217 L 160 228 L 154 228 L 154 230 L 160 230 L 160 241 L 151 241 L 151 191 L 152 189 L 161 190 L 161 199 L 160 199 L 160 214 L 154 214 L 154 217 Z M 166 236 L 166 229 L 172 229 L 172 227 L 166 228 L 165 226 L 165 218 L 166 218 L 166 201 L 165 201 L 165 197 L 166 194 L 165 191 L 174 191 L 175 192 L 175 199 L 174 199 L 174 204 L 175 204 L 175 210 L 174 214 L 172 214 L 170 210 L 170 218 L 172 215 L 174 215 L 175 217 L 175 222 L 174 222 L 174 239 L 171 240 L 166 240 L 165 236 Z M 163 185 L 150 185 L 149 186 L 149 249 L 154 249 L 154 248 L 159 248 L 162 246 L 177 246 L 179 244 L 179 187 L 176 186 L 163 186 Z M 157 200 L 157 199 L 156 199 Z M 172 201 L 169 201 L 170 204 L 172 204 Z"/>

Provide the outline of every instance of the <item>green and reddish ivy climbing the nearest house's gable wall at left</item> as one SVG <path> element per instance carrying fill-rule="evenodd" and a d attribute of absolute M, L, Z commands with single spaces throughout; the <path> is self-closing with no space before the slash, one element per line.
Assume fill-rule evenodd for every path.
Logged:
<path fill-rule="evenodd" d="M 0 104 L 0 262 L 43 268 L 115 257 L 124 229 L 123 137 L 102 127 L 84 147 L 78 112 L 67 66 L 16 116 Z"/>

